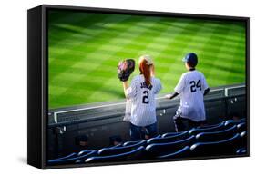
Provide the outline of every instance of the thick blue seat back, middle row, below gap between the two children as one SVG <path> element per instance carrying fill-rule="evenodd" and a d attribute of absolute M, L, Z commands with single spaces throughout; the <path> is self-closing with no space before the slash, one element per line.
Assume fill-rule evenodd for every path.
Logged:
<path fill-rule="evenodd" d="M 146 147 L 146 151 L 147 151 L 148 157 L 156 157 L 156 156 L 165 155 L 167 153 L 175 152 L 177 150 L 180 150 L 180 148 L 189 146 L 193 143 L 195 143 L 195 136 L 192 135 L 185 140 L 149 144 Z"/>

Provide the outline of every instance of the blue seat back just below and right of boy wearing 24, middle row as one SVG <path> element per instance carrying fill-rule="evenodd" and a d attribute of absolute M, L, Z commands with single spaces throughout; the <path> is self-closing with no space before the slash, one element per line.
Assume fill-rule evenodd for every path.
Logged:
<path fill-rule="evenodd" d="M 196 140 L 199 142 L 225 140 L 230 138 L 235 133 L 237 133 L 237 127 L 236 125 L 233 125 L 226 130 L 201 132 L 196 135 Z"/>

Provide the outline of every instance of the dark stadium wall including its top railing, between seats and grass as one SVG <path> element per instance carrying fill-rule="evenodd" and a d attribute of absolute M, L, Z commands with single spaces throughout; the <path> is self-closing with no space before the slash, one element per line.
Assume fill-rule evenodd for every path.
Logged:
<path fill-rule="evenodd" d="M 231 115 L 245 117 L 246 92 L 244 84 L 210 89 L 205 96 L 207 121 L 215 124 L 229 119 Z M 169 101 L 158 96 L 159 133 L 174 131 L 172 116 L 179 105 L 179 97 Z M 49 111 L 48 117 L 48 158 L 53 159 L 76 151 L 75 138 L 87 135 L 89 149 L 109 145 L 109 137 L 119 135 L 129 140 L 128 122 L 122 121 L 125 101 L 100 102 L 84 106 L 60 108 Z"/>

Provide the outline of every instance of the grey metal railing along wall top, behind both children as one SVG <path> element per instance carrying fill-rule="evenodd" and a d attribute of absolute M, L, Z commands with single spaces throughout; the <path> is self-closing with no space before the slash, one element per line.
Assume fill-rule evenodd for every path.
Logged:
<path fill-rule="evenodd" d="M 232 91 L 235 91 L 232 93 Z M 245 96 L 245 84 L 238 84 L 232 86 L 223 86 L 210 89 L 210 93 L 205 97 L 205 102 L 213 102 L 218 100 L 225 100 Z M 169 101 L 164 96 L 157 98 L 159 106 L 157 111 L 177 107 L 179 104 L 179 97 L 175 100 Z M 48 123 L 48 128 L 61 127 L 72 124 L 84 123 L 87 121 L 105 120 L 124 115 L 126 102 L 106 103 L 94 106 L 84 106 L 80 108 L 67 108 L 60 111 L 49 111 L 48 117 L 51 122 Z M 68 118 L 68 121 L 60 121 L 61 117 Z"/>

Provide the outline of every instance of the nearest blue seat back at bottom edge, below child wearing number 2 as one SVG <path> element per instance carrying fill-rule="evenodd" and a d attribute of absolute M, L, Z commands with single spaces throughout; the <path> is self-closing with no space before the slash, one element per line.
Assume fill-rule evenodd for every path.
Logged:
<path fill-rule="evenodd" d="M 139 160 L 141 156 L 143 156 L 145 148 L 143 146 L 139 146 L 135 150 L 127 151 L 124 153 L 119 153 L 115 155 L 108 156 L 96 156 L 90 157 L 85 160 L 85 162 L 112 162 L 119 160 Z"/>

